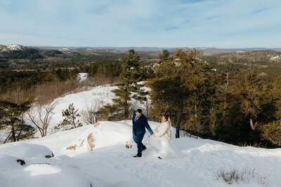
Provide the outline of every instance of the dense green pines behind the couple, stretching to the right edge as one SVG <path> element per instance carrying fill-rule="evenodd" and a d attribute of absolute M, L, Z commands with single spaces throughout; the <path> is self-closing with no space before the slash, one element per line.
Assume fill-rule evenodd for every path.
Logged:
<path fill-rule="evenodd" d="M 163 50 L 155 64 L 141 63 L 141 56 L 129 50 L 120 62 L 89 64 L 78 72 L 98 77 L 103 85 L 117 83 L 116 99 L 93 111 L 95 120 L 129 119 L 133 98 L 146 104 L 150 120 L 168 113 L 177 138 L 184 131 L 235 145 L 280 147 L 281 76 L 268 81 L 254 71 L 217 68 L 202 60 L 202 51 L 187 48 L 174 54 Z M 64 74 L 56 76 L 63 80 Z"/>

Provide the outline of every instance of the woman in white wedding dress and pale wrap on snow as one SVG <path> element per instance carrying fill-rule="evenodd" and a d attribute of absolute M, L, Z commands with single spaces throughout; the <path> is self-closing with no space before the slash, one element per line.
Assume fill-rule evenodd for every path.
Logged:
<path fill-rule="evenodd" d="M 162 123 L 155 130 L 155 138 L 150 138 L 150 143 L 159 149 L 158 158 L 166 158 L 176 153 L 176 148 L 171 144 L 171 121 L 167 114 L 162 116 Z"/>

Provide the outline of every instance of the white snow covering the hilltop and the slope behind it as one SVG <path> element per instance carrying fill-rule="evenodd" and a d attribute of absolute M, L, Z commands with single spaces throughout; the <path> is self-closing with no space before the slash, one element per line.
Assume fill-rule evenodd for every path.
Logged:
<path fill-rule="evenodd" d="M 61 111 L 70 103 L 79 111 L 91 102 L 110 103 L 110 90 L 114 88 L 99 87 L 56 99 L 51 128 L 63 120 Z M 159 125 L 149 123 L 152 130 Z M 280 148 L 239 147 L 190 137 L 174 139 L 173 128 L 171 143 L 177 148 L 176 155 L 159 160 L 157 148 L 149 141 L 154 137 L 147 133 L 143 143 L 148 149 L 142 158 L 133 158 L 137 148 L 131 128 L 130 120 L 100 121 L 49 132 L 43 138 L 2 144 L 0 186 L 280 186 Z M 220 169 L 244 168 L 251 174 L 238 184 L 216 179 L 215 172 Z"/>

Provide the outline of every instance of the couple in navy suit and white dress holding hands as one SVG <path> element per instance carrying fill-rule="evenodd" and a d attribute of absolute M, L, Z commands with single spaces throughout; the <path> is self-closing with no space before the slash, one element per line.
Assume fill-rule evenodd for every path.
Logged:
<path fill-rule="evenodd" d="M 145 135 L 145 128 L 150 132 L 153 137 L 150 137 L 150 143 L 152 146 L 158 148 L 158 158 L 165 158 L 167 154 L 174 153 L 174 148 L 169 144 L 171 140 L 171 121 L 167 114 L 162 116 L 162 123 L 158 125 L 154 132 L 151 130 L 150 125 L 148 125 L 148 119 L 142 113 L 141 109 L 137 109 L 133 113 L 133 141 L 136 142 L 138 146 L 138 153 L 133 157 L 141 157 L 142 152 L 145 151 L 146 146 L 143 145 L 143 137 Z"/>

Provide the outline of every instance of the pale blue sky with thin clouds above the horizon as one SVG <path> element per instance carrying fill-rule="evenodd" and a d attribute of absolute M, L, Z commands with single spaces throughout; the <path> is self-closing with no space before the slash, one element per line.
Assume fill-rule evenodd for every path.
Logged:
<path fill-rule="evenodd" d="M 281 48 L 280 0 L 0 0 L 0 44 Z"/>

